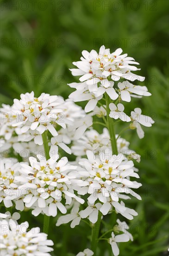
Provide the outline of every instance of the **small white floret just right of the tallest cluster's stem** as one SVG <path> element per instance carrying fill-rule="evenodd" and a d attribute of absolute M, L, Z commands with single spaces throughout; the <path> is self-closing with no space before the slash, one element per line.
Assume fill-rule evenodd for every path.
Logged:
<path fill-rule="evenodd" d="M 131 118 L 128 115 L 126 115 L 124 112 L 125 107 L 123 106 L 123 104 L 119 103 L 119 104 L 117 104 L 117 107 L 116 107 L 116 105 L 114 103 L 110 103 L 109 108 L 111 110 L 110 114 L 109 114 L 109 116 L 111 118 L 114 118 L 114 119 L 119 118 L 125 122 L 131 121 Z"/>

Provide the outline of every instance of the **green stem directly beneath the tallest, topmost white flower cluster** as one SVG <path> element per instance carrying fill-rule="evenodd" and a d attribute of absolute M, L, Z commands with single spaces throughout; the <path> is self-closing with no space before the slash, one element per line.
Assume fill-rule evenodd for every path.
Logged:
<path fill-rule="evenodd" d="M 107 125 L 108 125 L 108 131 L 110 134 L 110 141 L 112 145 L 112 152 L 113 154 L 118 154 L 117 150 L 117 143 L 116 143 L 116 135 L 115 135 L 115 130 L 114 130 L 114 121 L 113 118 L 109 116 L 110 114 L 110 108 L 109 104 L 111 103 L 111 99 L 108 94 L 106 94 L 106 114 L 107 114 Z"/>

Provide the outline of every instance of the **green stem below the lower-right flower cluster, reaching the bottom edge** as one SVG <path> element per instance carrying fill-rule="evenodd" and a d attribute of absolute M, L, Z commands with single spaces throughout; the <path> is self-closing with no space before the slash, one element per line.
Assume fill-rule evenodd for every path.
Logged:
<path fill-rule="evenodd" d="M 91 249 L 94 252 L 94 256 L 96 256 L 96 250 L 97 250 L 97 244 L 98 244 L 98 236 L 99 236 L 99 230 L 100 230 L 100 223 L 101 223 L 101 212 L 99 211 L 98 220 L 94 224 L 93 229 L 92 229 Z"/>

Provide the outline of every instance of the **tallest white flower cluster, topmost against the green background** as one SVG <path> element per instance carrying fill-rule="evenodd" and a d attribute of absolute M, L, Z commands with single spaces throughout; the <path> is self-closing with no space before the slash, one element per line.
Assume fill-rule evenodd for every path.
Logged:
<path fill-rule="evenodd" d="M 71 88 L 76 88 L 76 91 L 69 97 L 74 101 L 88 101 L 85 107 L 86 112 L 95 108 L 105 92 L 112 100 L 116 100 L 121 95 L 124 101 L 131 100 L 130 94 L 151 95 L 145 86 L 135 86 L 128 81 L 119 82 L 118 88 L 113 88 L 114 81 L 119 81 L 120 78 L 130 81 L 144 81 L 145 79 L 143 76 L 131 73 L 131 71 L 139 70 L 131 65 L 139 63 L 127 57 L 127 54 L 120 55 L 121 53 L 121 48 L 111 54 L 110 49 L 101 46 L 99 54 L 95 50 L 90 53 L 82 51 L 81 61 L 73 62 L 77 68 L 70 70 L 74 76 L 81 76 L 79 79 L 81 82 L 69 84 Z"/>

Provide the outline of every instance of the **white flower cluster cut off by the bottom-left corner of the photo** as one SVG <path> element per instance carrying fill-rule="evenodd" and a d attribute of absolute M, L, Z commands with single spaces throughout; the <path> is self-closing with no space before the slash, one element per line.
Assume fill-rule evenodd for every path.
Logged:
<path fill-rule="evenodd" d="M 29 231 L 28 222 L 18 224 L 19 213 L 10 216 L 9 212 L 0 214 L 0 251 L 3 256 L 50 256 L 53 249 L 47 234 L 40 233 L 39 228 Z"/>

